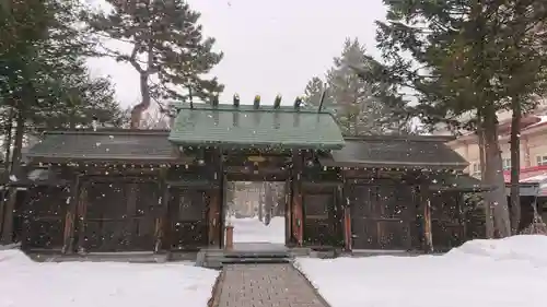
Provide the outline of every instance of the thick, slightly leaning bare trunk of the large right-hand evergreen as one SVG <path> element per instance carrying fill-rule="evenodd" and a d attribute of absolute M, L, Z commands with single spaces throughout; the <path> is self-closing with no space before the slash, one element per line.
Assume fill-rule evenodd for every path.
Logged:
<path fill-rule="evenodd" d="M 498 140 L 498 119 L 492 107 L 487 107 L 484 115 L 486 178 L 494 189 L 490 192 L 493 214 L 493 225 L 498 237 L 511 235 L 505 180 L 501 161 L 500 142 Z"/>

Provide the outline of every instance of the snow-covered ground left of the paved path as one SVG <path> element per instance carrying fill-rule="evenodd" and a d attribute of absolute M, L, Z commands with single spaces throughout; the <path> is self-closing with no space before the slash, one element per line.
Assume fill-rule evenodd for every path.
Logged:
<path fill-rule="evenodd" d="M 217 275 L 182 263 L 37 263 L 0 249 L 0 307 L 203 307 Z"/>

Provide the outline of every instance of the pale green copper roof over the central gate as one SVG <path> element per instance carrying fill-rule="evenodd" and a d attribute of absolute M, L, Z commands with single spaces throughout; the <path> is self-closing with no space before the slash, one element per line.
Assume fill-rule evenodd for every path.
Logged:
<path fill-rule="evenodd" d="M 329 111 L 247 105 L 175 105 L 168 140 L 182 145 L 341 149 L 344 138 Z"/>

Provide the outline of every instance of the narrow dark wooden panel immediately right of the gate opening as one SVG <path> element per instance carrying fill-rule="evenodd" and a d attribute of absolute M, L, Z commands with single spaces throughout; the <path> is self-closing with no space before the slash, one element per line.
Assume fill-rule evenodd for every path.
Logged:
<path fill-rule="evenodd" d="M 313 192 L 303 196 L 304 245 L 337 246 L 339 237 L 335 225 L 336 193 Z"/>

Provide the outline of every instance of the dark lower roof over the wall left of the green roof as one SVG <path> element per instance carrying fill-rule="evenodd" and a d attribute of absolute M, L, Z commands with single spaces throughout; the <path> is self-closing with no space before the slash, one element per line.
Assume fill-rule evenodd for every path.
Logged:
<path fill-rule="evenodd" d="M 166 130 L 51 131 L 30 149 L 33 162 L 175 161 L 175 146 Z"/>

